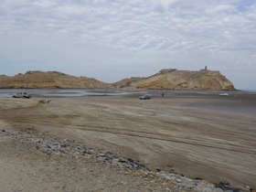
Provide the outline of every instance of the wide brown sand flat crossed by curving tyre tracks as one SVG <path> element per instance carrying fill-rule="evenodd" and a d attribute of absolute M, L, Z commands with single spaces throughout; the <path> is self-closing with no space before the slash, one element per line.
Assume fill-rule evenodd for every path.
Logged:
<path fill-rule="evenodd" d="M 0 99 L 0 117 L 17 130 L 75 139 L 152 169 L 256 187 L 256 95 L 152 96 Z"/>

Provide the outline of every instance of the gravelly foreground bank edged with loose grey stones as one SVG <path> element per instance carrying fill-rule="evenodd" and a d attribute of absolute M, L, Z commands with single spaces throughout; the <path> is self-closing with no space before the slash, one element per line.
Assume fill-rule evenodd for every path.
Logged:
<path fill-rule="evenodd" d="M 256 191 L 152 171 L 131 158 L 46 133 L 0 128 L 0 151 L 0 191 Z"/>

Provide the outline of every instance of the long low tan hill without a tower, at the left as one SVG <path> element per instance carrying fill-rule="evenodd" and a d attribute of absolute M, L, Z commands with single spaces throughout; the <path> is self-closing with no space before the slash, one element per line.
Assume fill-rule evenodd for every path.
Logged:
<path fill-rule="evenodd" d="M 100 80 L 74 77 L 57 71 L 27 71 L 14 77 L 0 76 L 0 88 L 109 88 Z"/>

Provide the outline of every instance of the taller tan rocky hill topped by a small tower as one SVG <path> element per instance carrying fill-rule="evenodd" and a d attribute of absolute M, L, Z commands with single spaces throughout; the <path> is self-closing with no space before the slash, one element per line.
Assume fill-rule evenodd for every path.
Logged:
<path fill-rule="evenodd" d="M 155 75 L 119 84 L 120 88 L 144 90 L 235 90 L 219 71 L 162 69 Z"/>

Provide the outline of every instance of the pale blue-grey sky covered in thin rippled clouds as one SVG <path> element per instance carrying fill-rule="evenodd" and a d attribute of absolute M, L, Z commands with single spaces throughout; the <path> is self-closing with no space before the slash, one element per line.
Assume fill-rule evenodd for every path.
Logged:
<path fill-rule="evenodd" d="M 256 90 L 255 0 L 0 0 L 0 74 L 219 70 Z"/>

